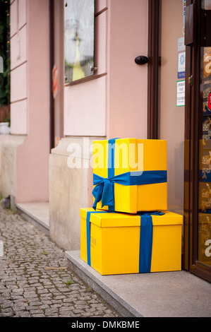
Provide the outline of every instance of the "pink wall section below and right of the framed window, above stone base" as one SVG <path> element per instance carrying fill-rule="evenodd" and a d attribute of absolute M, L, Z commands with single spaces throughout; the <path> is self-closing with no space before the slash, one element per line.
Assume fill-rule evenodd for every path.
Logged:
<path fill-rule="evenodd" d="M 147 136 L 147 1 L 96 4 L 95 65 L 98 78 L 64 89 L 66 136 Z"/>

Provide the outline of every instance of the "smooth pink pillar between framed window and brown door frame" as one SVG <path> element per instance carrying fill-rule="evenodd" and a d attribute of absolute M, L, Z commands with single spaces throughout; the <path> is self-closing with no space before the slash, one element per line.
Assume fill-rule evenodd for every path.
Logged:
<path fill-rule="evenodd" d="M 107 135 L 147 138 L 148 1 L 109 0 Z"/>

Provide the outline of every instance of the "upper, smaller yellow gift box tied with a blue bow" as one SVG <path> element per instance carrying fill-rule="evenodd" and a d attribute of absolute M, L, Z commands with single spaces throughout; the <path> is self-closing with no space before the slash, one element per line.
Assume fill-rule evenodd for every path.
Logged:
<path fill-rule="evenodd" d="M 124 213 L 167 210 L 167 141 L 114 138 L 92 146 L 93 208 Z"/>

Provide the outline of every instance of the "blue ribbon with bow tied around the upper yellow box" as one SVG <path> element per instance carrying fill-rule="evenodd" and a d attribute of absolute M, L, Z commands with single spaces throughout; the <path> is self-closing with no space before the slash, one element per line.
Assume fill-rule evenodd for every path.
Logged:
<path fill-rule="evenodd" d="M 97 203 L 102 201 L 102 208 L 108 206 L 109 211 L 114 211 L 114 183 L 123 184 L 124 186 L 137 186 L 167 182 L 167 170 L 126 172 L 114 176 L 115 141 L 116 138 L 109 140 L 108 177 L 93 174 L 95 188 L 92 190 L 92 195 L 95 197 L 95 202 L 92 208 L 95 210 Z"/>

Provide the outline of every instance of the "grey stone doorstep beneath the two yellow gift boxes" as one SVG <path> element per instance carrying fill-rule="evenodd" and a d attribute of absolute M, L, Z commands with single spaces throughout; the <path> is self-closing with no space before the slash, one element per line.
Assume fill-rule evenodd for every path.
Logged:
<path fill-rule="evenodd" d="M 66 251 L 68 265 L 124 317 L 210 317 L 211 284 L 187 271 L 100 275 Z"/>

